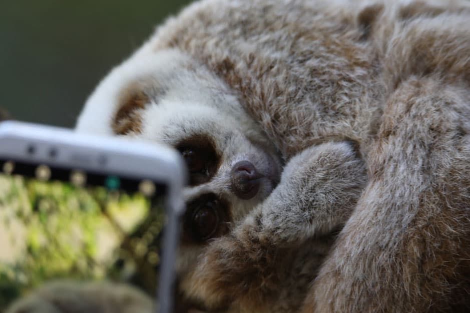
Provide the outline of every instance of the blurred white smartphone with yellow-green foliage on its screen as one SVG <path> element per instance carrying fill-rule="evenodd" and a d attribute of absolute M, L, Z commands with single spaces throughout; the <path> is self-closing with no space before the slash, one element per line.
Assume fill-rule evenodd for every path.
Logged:
<path fill-rule="evenodd" d="M 169 313 L 185 182 L 167 147 L 0 123 L 0 311 L 74 278 L 158 289 Z"/>

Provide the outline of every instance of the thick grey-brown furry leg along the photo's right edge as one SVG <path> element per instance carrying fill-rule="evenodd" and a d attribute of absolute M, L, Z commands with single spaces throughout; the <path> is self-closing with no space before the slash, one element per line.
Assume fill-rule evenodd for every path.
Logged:
<path fill-rule="evenodd" d="M 430 77 L 391 95 L 369 184 L 304 312 L 468 310 L 469 100 Z"/>

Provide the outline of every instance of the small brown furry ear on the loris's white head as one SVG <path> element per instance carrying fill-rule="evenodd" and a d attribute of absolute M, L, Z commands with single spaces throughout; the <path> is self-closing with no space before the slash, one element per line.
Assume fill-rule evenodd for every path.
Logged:
<path fill-rule="evenodd" d="M 119 97 L 119 106 L 116 111 L 111 127 L 117 135 L 128 135 L 142 132 L 142 114 L 149 103 L 149 97 L 132 85 L 123 90 Z"/>

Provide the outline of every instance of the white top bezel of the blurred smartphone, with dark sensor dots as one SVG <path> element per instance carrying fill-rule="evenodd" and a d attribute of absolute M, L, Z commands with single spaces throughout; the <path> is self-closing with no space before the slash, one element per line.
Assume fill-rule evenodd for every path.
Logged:
<path fill-rule="evenodd" d="M 176 207 L 186 183 L 184 162 L 172 148 L 54 126 L 1 122 L 0 158 L 164 181 Z"/>

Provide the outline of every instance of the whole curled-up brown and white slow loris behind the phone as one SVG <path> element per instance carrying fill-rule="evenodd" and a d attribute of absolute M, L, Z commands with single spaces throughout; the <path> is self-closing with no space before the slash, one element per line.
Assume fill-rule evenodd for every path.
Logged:
<path fill-rule="evenodd" d="M 469 19 L 465 2 L 204 0 L 105 78 L 77 129 L 185 157 L 178 303 L 465 311 Z"/>

